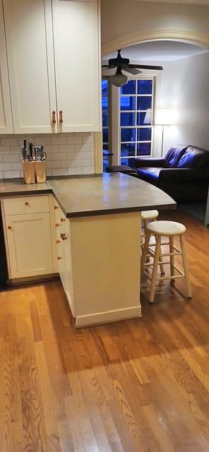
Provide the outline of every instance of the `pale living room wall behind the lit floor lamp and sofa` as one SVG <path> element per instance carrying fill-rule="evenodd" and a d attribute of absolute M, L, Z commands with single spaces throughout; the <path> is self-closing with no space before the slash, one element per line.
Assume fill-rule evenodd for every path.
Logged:
<path fill-rule="evenodd" d="M 209 150 L 209 53 L 166 62 L 163 67 L 157 76 L 156 108 L 175 113 L 174 126 L 165 126 L 163 153 L 174 144 Z M 159 148 L 157 128 L 156 145 Z"/>

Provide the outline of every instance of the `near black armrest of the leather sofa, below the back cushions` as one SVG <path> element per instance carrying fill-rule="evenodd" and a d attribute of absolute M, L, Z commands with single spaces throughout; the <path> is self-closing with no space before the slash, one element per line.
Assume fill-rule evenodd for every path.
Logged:
<path fill-rule="evenodd" d="M 206 182 L 209 170 L 192 168 L 165 168 L 160 171 L 159 182 Z"/>

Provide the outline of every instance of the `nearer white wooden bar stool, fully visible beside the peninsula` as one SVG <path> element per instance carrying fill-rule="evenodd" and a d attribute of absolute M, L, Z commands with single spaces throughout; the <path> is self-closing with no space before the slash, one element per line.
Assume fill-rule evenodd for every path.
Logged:
<path fill-rule="evenodd" d="M 186 247 L 184 242 L 184 232 L 186 231 L 186 227 L 181 225 L 181 223 L 175 221 L 153 221 L 147 225 L 146 235 L 145 235 L 145 244 L 143 245 L 143 252 L 141 256 L 141 269 L 144 270 L 149 266 L 153 266 L 153 274 L 150 285 L 150 303 L 154 302 L 155 297 L 155 283 L 156 280 L 171 280 L 174 281 L 177 278 L 185 278 L 186 280 L 186 296 L 188 298 L 192 297 L 191 293 L 191 283 L 189 279 L 189 266 L 186 257 Z M 146 256 L 148 254 L 149 243 L 151 235 L 155 236 L 156 246 L 155 251 L 150 251 L 151 255 L 153 255 L 154 261 L 153 263 L 146 262 Z M 180 240 L 181 250 L 177 249 L 174 246 L 174 237 L 178 236 Z M 169 253 L 162 254 L 161 251 L 161 238 L 168 237 L 169 242 L 163 243 L 163 245 L 169 245 Z M 169 256 L 168 263 L 170 266 L 170 275 L 169 276 L 159 276 L 157 277 L 157 266 L 162 264 L 162 257 Z M 177 267 L 174 263 L 174 256 L 182 256 L 184 271 L 181 271 L 179 267 Z M 177 273 L 175 274 L 175 270 Z"/>

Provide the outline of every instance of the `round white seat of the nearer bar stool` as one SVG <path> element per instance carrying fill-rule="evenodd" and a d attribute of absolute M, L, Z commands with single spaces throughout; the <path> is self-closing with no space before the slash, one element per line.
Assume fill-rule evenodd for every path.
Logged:
<path fill-rule="evenodd" d="M 176 221 L 160 220 L 148 223 L 147 230 L 155 235 L 172 236 L 184 234 L 186 227 Z"/>

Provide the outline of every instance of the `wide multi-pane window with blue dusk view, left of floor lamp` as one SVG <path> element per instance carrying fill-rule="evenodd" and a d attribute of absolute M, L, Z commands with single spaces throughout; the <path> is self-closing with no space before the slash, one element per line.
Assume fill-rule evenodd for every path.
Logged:
<path fill-rule="evenodd" d="M 121 87 L 121 165 L 133 167 L 134 157 L 151 155 L 153 136 L 153 80 L 129 80 Z"/>

